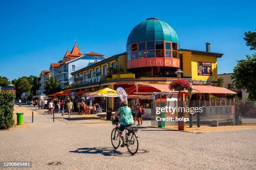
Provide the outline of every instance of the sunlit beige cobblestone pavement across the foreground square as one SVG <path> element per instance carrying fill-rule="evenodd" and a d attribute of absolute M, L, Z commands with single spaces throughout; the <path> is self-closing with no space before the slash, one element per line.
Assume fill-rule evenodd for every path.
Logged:
<path fill-rule="evenodd" d="M 24 120 L 29 127 L 0 131 L 0 161 L 32 161 L 28 169 L 256 168 L 256 129 L 184 133 L 140 127 L 139 151 L 131 156 L 127 148 L 112 148 L 114 127 L 110 121 L 93 117 L 67 120 L 57 115 L 53 122 L 44 110 L 34 111 L 34 123 L 30 123 L 31 108 L 17 109 L 26 112 Z M 61 164 L 48 165 L 54 161 Z"/>

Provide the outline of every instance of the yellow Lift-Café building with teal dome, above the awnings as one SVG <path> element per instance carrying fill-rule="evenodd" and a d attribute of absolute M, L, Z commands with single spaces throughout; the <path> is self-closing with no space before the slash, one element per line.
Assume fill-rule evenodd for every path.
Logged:
<path fill-rule="evenodd" d="M 94 92 L 137 83 L 169 84 L 177 80 L 174 72 L 178 68 L 184 72 L 184 80 L 196 85 L 216 85 L 217 58 L 222 55 L 210 52 L 208 42 L 206 51 L 180 49 L 178 35 L 170 25 L 148 18 L 131 31 L 126 52 L 73 72 L 74 83 L 65 90 Z M 115 108 L 114 100 L 109 100 L 108 108 Z"/>

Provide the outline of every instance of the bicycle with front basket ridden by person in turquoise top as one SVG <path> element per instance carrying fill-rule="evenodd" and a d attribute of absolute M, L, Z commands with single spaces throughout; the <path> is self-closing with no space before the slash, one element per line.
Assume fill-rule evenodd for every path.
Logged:
<path fill-rule="evenodd" d="M 112 124 L 116 125 L 116 127 L 111 132 L 111 143 L 114 147 L 114 149 L 117 149 L 120 146 L 121 139 L 119 136 L 119 126 L 120 126 L 120 116 L 115 117 L 115 120 L 111 118 Z M 136 128 L 125 128 L 125 143 L 127 143 L 127 149 L 128 152 L 132 155 L 136 154 L 138 152 L 138 135 L 137 135 L 138 129 Z"/>

